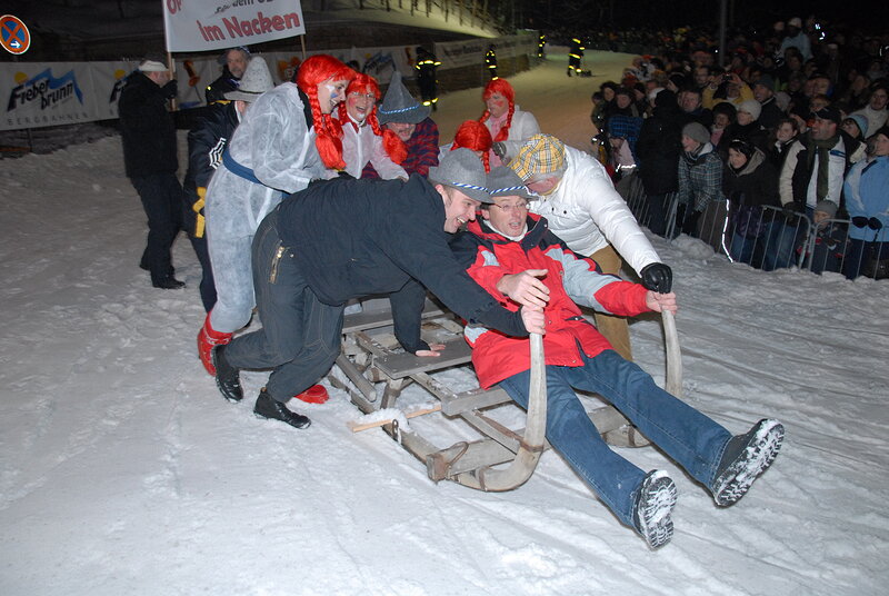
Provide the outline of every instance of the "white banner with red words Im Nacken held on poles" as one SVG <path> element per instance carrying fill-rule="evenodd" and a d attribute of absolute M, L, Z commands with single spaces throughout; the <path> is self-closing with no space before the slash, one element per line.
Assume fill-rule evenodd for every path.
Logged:
<path fill-rule="evenodd" d="M 168 52 L 221 50 L 302 36 L 299 0 L 161 0 Z"/>

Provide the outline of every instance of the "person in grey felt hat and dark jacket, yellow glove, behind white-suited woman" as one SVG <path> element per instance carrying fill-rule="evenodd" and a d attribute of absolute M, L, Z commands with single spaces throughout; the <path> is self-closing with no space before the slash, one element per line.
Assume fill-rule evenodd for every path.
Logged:
<path fill-rule="evenodd" d="M 243 72 L 241 85 L 237 90 L 226 92 L 224 98 L 228 103 L 212 105 L 207 116 L 199 119 L 188 133 L 188 171 L 182 183 L 186 199 L 183 222 L 198 261 L 201 264 L 200 292 L 207 312 L 210 312 L 216 304 L 216 285 L 204 235 L 203 207 L 207 187 L 222 162 L 222 152 L 241 122 L 248 103 L 252 103 L 273 87 L 266 61 L 260 57 L 251 58 Z"/>

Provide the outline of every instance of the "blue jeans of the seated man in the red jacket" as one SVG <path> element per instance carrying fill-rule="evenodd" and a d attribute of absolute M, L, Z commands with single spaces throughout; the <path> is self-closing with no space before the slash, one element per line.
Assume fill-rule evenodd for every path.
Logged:
<path fill-rule="evenodd" d="M 608 447 L 573 389 L 593 391 L 610 401 L 709 488 L 731 434 L 658 387 L 648 372 L 616 351 L 582 357 L 583 366 L 547 366 L 547 439 L 618 519 L 633 527 L 633 499 L 646 473 Z M 526 370 L 500 386 L 527 408 L 529 383 L 530 370 Z"/>

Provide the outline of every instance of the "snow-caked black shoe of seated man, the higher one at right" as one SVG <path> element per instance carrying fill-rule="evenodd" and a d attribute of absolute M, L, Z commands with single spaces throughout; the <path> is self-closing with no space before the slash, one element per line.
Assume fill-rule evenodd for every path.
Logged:
<path fill-rule="evenodd" d="M 783 438 L 783 425 L 769 419 L 758 421 L 746 435 L 730 438 L 710 487 L 716 504 L 728 507 L 738 503 L 775 461 Z"/>

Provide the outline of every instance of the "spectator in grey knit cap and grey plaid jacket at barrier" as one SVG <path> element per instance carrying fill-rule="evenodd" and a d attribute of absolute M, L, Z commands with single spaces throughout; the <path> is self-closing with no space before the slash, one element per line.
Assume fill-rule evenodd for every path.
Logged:
<path fill-rule="evenodd" d="M 725 217 L 722 160 L 709 138 L 707 129 L 697 122 L 682 128 L 677 226 L 685 234 L 701 238 L 713 250 L 720 250 L 721 229 L 719 235 L 713 232 L 716 219 Z M 705 212 L 707 217 L 701 220 Z"/>

